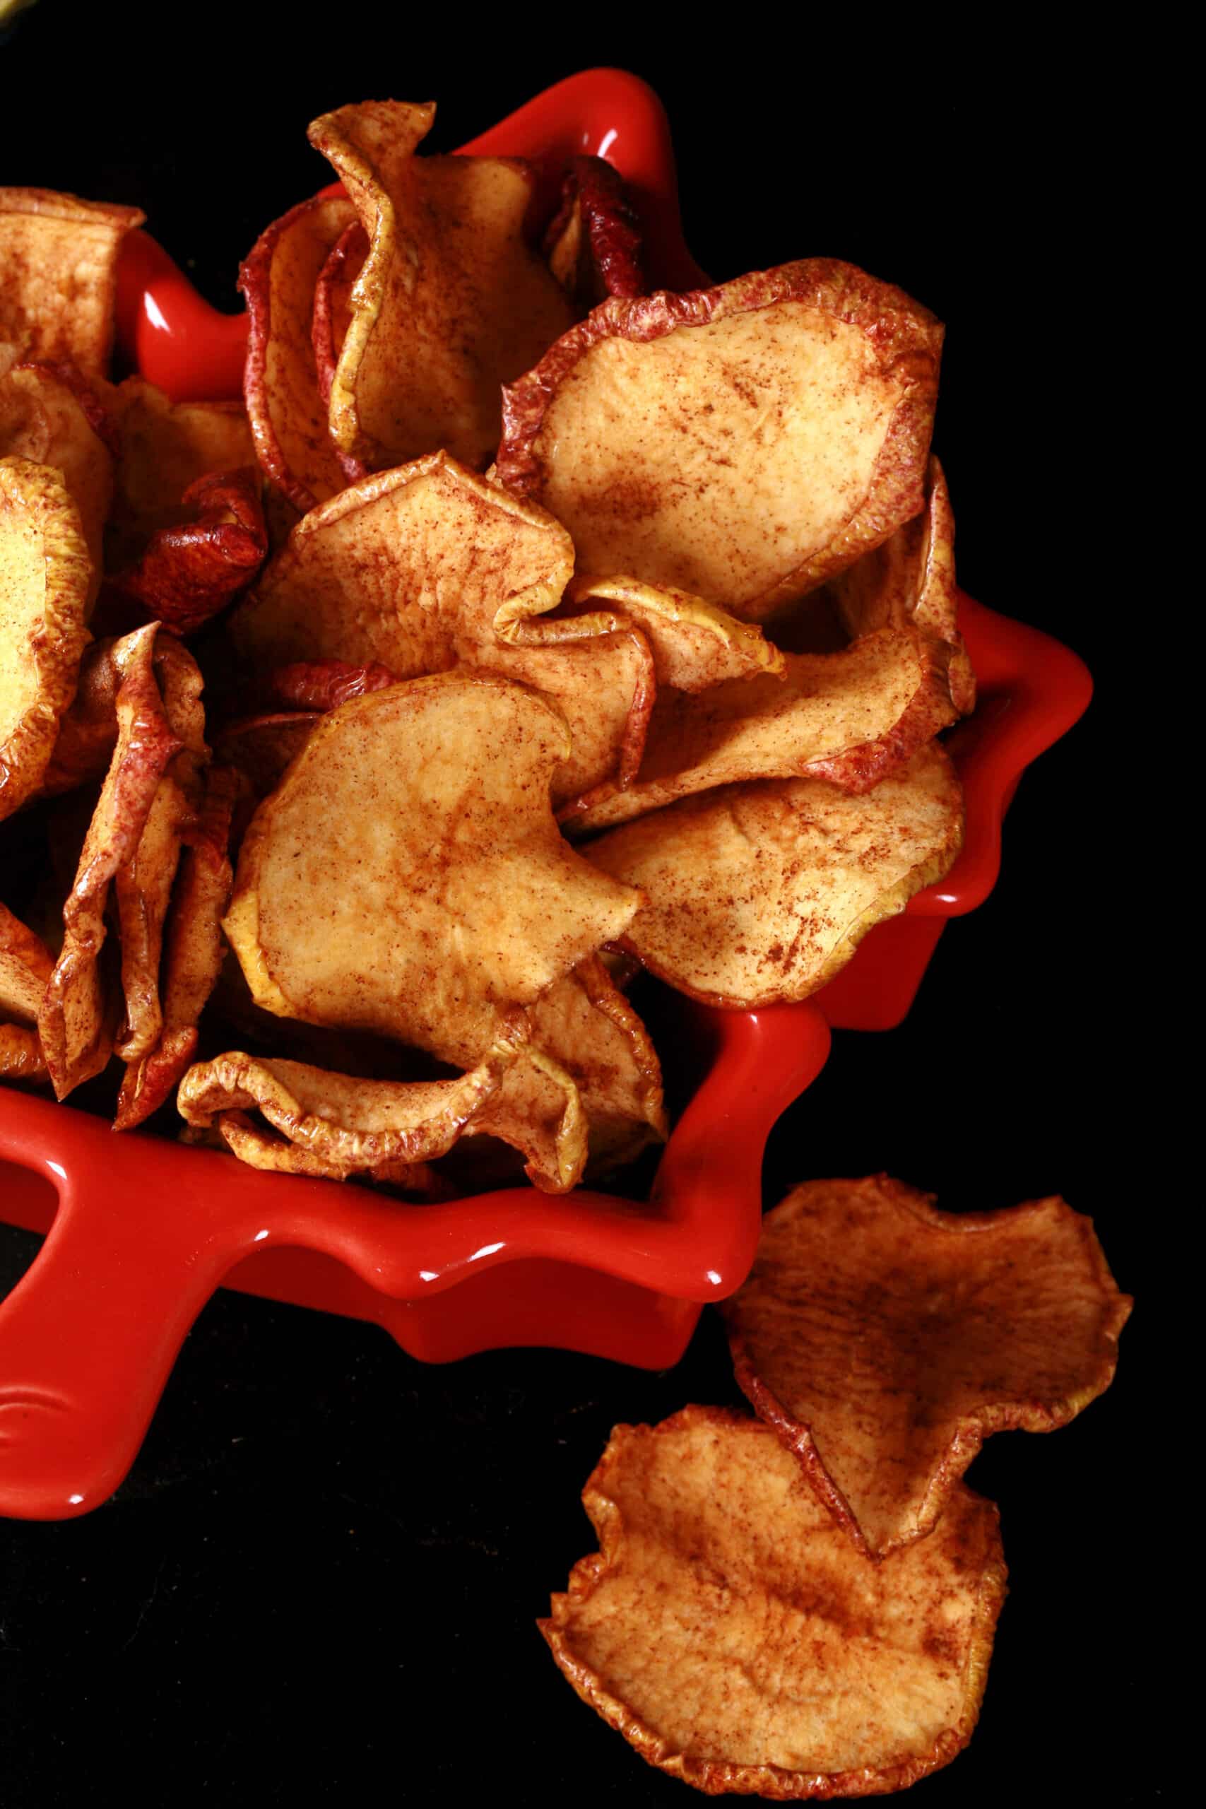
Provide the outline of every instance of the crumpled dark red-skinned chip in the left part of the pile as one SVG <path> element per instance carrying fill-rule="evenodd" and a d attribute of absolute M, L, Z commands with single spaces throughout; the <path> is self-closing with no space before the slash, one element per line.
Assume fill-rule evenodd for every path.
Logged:
<path fill-rule="evenodd" d="M 199 478 L 181 507 L 193 519 L 152 534 L 114 584 L 170 633 L 192 635 L 255 579 L 268 557 L 268 528 L 251 469 Z"/>

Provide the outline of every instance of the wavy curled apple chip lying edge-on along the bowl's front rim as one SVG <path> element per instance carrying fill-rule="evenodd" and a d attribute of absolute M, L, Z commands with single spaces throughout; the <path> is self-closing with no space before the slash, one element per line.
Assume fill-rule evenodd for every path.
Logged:
<path fill-rule="evenodd" d="M 526 1037 L 523 1011 L 512 1011 L 483 1060 L 456 1080 L 363 1080 L 237 1049 L 190 1067 L 177 1107 L 201 1129 L 221 1127 L 228 1113 L 260 1113 L 287 1143 L 345 1176 L 410 1167 L 452 1149 Z"/>

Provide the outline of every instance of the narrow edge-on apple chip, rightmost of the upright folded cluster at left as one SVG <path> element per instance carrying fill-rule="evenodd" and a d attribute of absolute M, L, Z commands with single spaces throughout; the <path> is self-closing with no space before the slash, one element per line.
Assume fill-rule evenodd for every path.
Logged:
<path fill-rule="evenodd" d="M 159 980 L 159 1028 L 127 1060 L 116 1131 L 130 1131 L 150 1118 L 195 1055 L 197 1024 L 222 968 L 222 914 L 233 881 L 228 845 L 239 798 L 239 774 L 230 767 L 212 767 L 201 810 L 183 825 Z"/>

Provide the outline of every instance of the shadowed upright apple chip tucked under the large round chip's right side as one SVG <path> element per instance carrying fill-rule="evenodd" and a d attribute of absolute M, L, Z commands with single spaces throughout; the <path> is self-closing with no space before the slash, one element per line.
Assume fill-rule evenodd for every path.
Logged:
<path fill-rule="evenodd" d="M 949 648 L 947 684 L 960 715 L 976 707 L 976 675 L 958 631 L 955 582 L 955 514 L 946 476 L 929 459 L 926 512 L 897 528 L 891 539 L 864 554 L 830 592 L 852 635 L 877 628 L 908 628 Z"/>

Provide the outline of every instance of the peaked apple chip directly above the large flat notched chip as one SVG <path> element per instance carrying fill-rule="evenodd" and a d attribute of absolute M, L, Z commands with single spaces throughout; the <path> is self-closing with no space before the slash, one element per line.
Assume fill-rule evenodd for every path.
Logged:
<path fill-rule="evenodd" d="M 304 516 L 230 630 L 257 668 L 378 660 L 418 678 L 492 646 L 499 619 L 551 610 L 571 572 L 561 523 L 432 452 Z"/>

